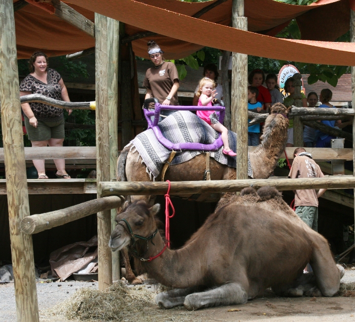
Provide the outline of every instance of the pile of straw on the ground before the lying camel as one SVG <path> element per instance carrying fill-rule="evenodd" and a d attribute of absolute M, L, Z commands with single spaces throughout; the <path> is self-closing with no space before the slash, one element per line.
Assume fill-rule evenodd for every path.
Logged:
<path fill-rule="evenodd" d="M 80 289 L 71 298 L 47 311 L 47 315 L 61 315 L 77 320 L 125 322 L 197 322 L 202 318 L 196 318 L 194 312 L 189 312 L 184 307 L 159 309 L 154 301 L 159 292 L 160 289 L 150 291 L 145 285 L 128 288 L 122 282 L 112 284 L 105 291 Z"/>

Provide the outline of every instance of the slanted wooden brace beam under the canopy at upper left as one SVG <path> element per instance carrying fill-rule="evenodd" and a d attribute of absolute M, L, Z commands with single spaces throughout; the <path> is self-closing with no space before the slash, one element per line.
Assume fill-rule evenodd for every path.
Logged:
<path fill-rule="evenodd" d="M 54 15 L 95 38 L 95 24 L 92 21 L 59 0 L 52 0 L 52 5 L 55 8 Z"/>

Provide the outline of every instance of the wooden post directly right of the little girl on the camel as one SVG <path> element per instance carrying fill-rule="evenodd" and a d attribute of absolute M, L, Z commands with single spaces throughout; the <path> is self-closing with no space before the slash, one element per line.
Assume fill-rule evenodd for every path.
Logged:
<path fill-rule="evenodd" d="M 244 0 L 233 0 L 232 27 L 247 30 Z M 232 55 L 232 131 L 237 133 L 237 179 L 248 177 L 248 56 Z"/>

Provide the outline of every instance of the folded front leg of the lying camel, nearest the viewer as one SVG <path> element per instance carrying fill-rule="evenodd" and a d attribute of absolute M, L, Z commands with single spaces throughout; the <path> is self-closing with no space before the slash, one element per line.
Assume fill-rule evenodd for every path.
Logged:
<path fill-rule="evenodd" d="M 216 289 L 188 295 L 184 306 L 191 311 L 209 306 L 244 304 L 247 298 L 246 291 L 239 283 L 228 283 Z"/>

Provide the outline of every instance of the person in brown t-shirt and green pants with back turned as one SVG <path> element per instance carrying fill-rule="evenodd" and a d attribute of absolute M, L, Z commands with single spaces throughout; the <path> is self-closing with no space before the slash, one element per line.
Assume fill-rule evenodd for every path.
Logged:
<path fill-rule="evenodd" d="M 313 161 L 312 155 L 303 148 L 294 151 L 294 161 L 290 170 L 290 178 L 319 178 L 324 177 L 321 168 Z M 318 198 L 327 189 L 320 189 L 317 193 L 314 189 L 296 190 L 295 207 L 298 217 L 313 230 L 318 228 Z"/>

